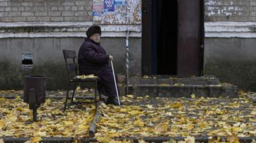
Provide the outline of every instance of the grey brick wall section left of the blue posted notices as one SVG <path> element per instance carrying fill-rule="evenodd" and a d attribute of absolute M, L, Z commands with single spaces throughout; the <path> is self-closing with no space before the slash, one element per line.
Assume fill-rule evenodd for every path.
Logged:
<path fill-rule="evenodd" d="M 92 0 L 0 0 L 0 22 L 92 21 Z"/>

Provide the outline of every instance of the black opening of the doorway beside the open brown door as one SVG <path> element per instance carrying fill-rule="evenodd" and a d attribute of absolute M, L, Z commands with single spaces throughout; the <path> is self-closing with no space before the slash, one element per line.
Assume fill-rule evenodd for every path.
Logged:
<path fill-rule="evenodd" d="M 152 22 L 153 72 L 176 75 L 177 1 L 152 0 Z"/>

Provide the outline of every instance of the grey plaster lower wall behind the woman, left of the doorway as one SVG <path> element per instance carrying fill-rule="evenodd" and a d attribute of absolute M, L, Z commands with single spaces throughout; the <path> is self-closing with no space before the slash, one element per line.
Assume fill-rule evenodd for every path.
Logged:
<path fill-rule="evenodd" d="M 131 72 L 140 74 L 141 38 L 131 38 Z M 45 74 L 47 89 L 67 86 L 63 49 L 78 52 L 84 38 L 3 38 L 0 39 L 0 88 L 20 89 L 25 74 Z M 114 56 L 116 73 L 125 72 L 125 38 L 102 38 L 102 46 Z M 33 69 L 22 70 L 22 53 L 33 54 Z"/>

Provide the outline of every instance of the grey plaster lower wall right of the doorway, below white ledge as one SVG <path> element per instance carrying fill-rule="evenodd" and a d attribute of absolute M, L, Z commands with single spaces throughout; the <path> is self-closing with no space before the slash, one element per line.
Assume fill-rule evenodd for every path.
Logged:
<path fill-rule="evenodd" d="M 206 38 L 205 74 L 256 91 L 255 45 L 253 38 Z"/>

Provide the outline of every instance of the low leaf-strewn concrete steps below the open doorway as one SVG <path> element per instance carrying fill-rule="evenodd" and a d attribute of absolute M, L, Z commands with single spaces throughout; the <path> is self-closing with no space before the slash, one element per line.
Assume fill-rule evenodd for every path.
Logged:
<path fill-rule="evenodd" d="M 126 86 L 120 86 L 121 95 L 126 94 Z M 220 84 L 215 76 L 193 76 L 177 78 L 175 76 L 132 76 L 129 78 L 129 93 L 135 96 L 191 98 L 197 97 L 238 97 L 238 87 L 232 84 Z"/>

